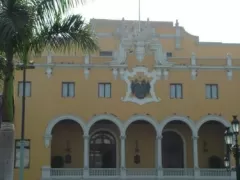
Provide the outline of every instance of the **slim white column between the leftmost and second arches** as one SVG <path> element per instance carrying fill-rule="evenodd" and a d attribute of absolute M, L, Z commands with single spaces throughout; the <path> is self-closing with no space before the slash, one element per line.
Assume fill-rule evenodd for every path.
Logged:
<path fill-rule="evenodd" d="M 84 169 L 83 169 L 83 176 L 89 176 L 89 136 L 84 135 Z"/>

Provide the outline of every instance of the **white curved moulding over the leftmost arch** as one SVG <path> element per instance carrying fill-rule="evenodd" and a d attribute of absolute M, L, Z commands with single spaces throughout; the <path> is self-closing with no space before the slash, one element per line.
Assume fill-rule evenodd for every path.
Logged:
<path fill-rule="evenodd" d="M 76 123 L 78 123 L 81 126 L 82 131 L 84 133 L 86 125 L 85 125 L 85 123 L 84 123 L 82 118 L 77 117 L 77 116 L 72 116 L 72 115 L 58 116 L 57 118 L 54 118 L 54 119 L 52 119 L 51 121 L 48 122 L 48 125 L 47 125 L 46 130 L 45 130 L 45 134 L 44 134 L 44 144 L 45 144 L 45 147 L 49 147 L 50 146 L 51 139 L 52 139 L 52 129 L 54 128 L 54 126 L 57 123 L 59 123 L 60 121 L 63 121 L 63 120 L 75 121 Z"/>

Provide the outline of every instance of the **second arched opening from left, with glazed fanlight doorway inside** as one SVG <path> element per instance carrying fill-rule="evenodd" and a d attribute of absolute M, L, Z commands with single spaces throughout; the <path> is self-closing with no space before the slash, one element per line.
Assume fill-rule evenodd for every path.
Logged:
<path fill-rule="evenodd" d="M 120 130 L 109 120 L 95 122 L 90 128 L 89 166 L 90 168 L 119 167 Z"/>

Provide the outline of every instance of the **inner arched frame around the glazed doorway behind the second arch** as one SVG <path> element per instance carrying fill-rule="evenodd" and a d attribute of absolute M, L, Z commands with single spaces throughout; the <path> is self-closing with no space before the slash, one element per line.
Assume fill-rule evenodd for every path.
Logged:
<path fill-rule="evenodd" d="M 98 129 L 96 129 L 96 130 L 94 130 L 93 132 L 90 133 L 90 135 L 89 135 L 89 143 L 88 143 L 89 151 L 90 151 L 90 141 L 91 141 L 92 135 L 97 133 L 97 132 L 100 132 L 100 131 L 107 131 L 107 132 L 111 133 L 113 135 L 113 137 L 115 138 L 115 142 L 116 142 L 116 168 L 119 168 L 120 167 L 119 166 L 119 157 L 120 157 L 120 154 L 119 154 L 120 153 L 120 151 L 119 151 L 119 147 L 120 147 L 119 146 L 119 138 L 116 135 L 116 133 L 114 131 L 112 131 L 110 128 L 98 128 Z M 89 153 L 89 155 L 90 155 L 90 153 Z M 89 159 L 89 161 L 90 161 L 90 159 Z M 89 164 L 90 164 L 90 162 L 89 162 Z"/>

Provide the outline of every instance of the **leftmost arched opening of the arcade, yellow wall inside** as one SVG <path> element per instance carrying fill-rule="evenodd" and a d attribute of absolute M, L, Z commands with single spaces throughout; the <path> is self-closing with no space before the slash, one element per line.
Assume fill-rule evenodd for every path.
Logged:
<path fill-rule="evenodd" d="M 51 167 L 83 167 L 83 129 L 73 120 L 62 120 L 52 129 Z"/>

